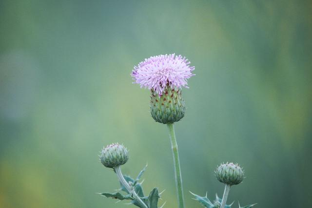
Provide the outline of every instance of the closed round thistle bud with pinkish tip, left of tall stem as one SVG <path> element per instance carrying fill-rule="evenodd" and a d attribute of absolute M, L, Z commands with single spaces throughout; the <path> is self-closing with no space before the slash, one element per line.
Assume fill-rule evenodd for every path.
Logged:
<path fill-rule="evenodd" d="M 123 165 L 128 161 L 128 158 L 127 149 L 118 143 L 103 148 L 100 155 L 101 163 L 107 168 Z"/>

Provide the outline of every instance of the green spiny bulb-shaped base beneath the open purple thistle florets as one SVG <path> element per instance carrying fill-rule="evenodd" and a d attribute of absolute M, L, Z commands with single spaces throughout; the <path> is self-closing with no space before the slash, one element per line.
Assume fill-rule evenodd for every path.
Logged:
<path fill-rule="evenodd" d="M 151 114 L 155 121 L 163 124 L 171 124 L 184 117 L 185 104 L 181 90 L 171 89 L 167 86 L 162 95 L 152 90 Z"/>

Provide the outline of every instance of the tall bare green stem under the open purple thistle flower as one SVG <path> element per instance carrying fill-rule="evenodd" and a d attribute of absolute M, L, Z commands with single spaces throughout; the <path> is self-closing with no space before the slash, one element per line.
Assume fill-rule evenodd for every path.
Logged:
<path fill-rule="evenodd" d="M 171 149 L 174 157 L 174 167 L 175 167 L 175 179 L 176 179 L 176 193 L 178 200 L 178 208 L 184 208 L 184 197 L 183 197 L 183 186 L 182 186 L 182 177 L 180 169 L 180 160 L 179 152 L 176 144 L 176 134 L 174 124 L 167 124 L 170 140 L 171 140 Z"/>

